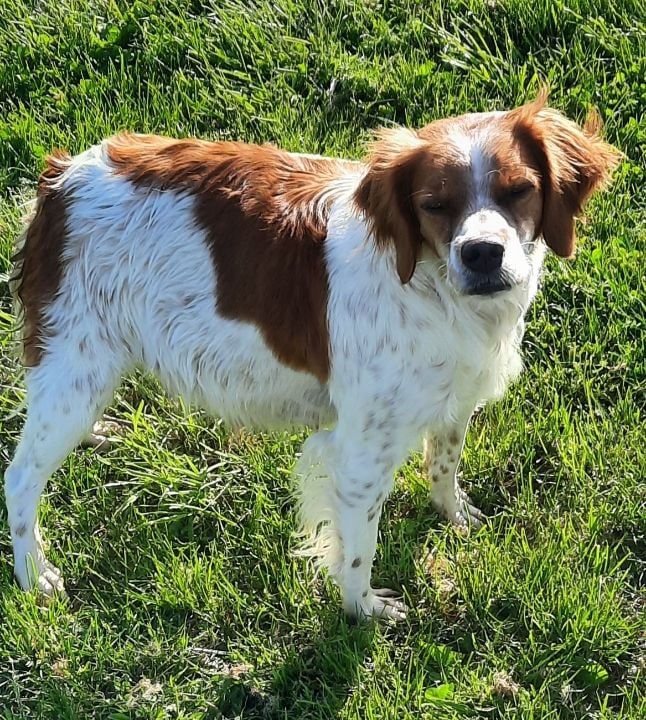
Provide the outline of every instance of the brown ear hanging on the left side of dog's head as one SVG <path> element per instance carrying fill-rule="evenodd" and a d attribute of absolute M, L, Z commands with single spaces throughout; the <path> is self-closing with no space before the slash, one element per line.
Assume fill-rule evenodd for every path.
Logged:
<path fill-rule="evenodd" d="M 423 240 L 412 199 L 421 149 L 422 142 L 410 130 L 382 130 L 368 157 L 368 172 L 355 193 L 377 245 L 394 244 L 402 284 L 413 277 Z"/>

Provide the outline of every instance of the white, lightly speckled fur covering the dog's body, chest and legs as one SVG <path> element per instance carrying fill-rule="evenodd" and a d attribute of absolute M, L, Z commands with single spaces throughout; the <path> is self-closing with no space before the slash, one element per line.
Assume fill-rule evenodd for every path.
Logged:
<path fill-rule="evenodd" d="M 304 552 L 329 569 L 348 612 L 401 616 L 401 605 L 370 585 L 394 471 L 422 441 L 434 444 L 434 502 L 456 522 L 475 519 L 456 480 L 462 439 L 474 408 L 500 397 L 520 371 L 523 316 L 544 249 L 528 249 L 527 237 L 505 228 L 517 285 L 494 297 L 463 295 L 451 281 L 459 275 L 452 256 L 422 259 L 402 285 L 394 252 L 375 250 L 352 202 L 363 172 L 349 169 L 327 190 L 331 375 L 321 384 L 280 363 L 256 327 L 217 312 L 191 195 L 134 187 L 113 172 L 102 145 L 72 160 L 59 180 L 71 198 L 66 270 L 47 309 L 46 351 L 27 371 L 28 417 L 5 481 L 23 587 L 62 589 L 42 551 L 40 495 L 121 376 L 141 365 L 227 422 L 320 428 L 297 468 Z M 464 220 L 469 233 L 498 232 L 502 216 L 491 213 L 475 207 Z"/>

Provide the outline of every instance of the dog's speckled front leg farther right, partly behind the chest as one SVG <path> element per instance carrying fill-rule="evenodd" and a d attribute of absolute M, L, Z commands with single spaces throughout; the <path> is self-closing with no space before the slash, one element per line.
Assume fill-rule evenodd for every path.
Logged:
<path fill-rule="evenodd" d="M 431 502 L 454 525 L 478 528 L 485 517 L 460 487 L 457 470 L 469 424 L 461 422 L 434 428 L 424 438 L 424 470 L 431 487 Z"/>

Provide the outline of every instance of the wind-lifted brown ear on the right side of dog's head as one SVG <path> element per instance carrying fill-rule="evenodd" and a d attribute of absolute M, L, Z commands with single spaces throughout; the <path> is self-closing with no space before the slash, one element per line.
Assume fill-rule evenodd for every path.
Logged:
<path fill-rule="evenodd" d="M 576 246 L 575 218 L 590 196 L 610 179 L 621 153 L 599 137 L 601 121 L 593 111 L 583 128 L 543 107 L 546 94 L 513 111 L 516 132 L 538 151 L 543 175 L 542 235 L 561 257 Z"/>

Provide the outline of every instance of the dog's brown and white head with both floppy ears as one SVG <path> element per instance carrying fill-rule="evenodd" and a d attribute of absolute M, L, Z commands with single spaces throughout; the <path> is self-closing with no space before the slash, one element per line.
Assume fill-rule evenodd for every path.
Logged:
<path fill-rule="evenodd" d="M 540 236 L 574 254 L 575 218 L 620 155 L 599 124 L 578 127 L 542 93 L 509 112 L 383 130 L 355 200 L 376 242 L 394 243 L 402 283 L 430 253 L 463 294 L 509 290 L 527 280 Z"/>

